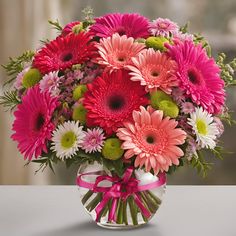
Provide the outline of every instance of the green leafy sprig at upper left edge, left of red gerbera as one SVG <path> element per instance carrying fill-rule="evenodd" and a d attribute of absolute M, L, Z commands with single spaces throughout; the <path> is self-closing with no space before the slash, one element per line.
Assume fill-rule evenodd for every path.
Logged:
<path fill-rule="evenodd" d="M 4 83 L 4 86 L 15 80 L 16 76 L 24 69 L 25 63 L 30 62 L 33 56 L 33 51 L 26 51 L 17 58 L 10 57 L 9 62 L 6 65 L 2 65 L 7 75 L 10 77 L 10 79 Z"/>

